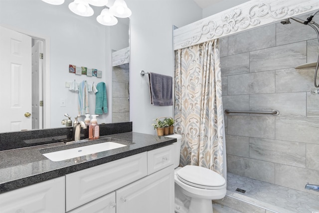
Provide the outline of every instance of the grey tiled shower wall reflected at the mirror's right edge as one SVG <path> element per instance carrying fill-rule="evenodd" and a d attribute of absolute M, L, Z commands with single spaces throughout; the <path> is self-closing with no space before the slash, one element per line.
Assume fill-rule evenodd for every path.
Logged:
<path fill-rule="evenodd" d="M 112 122 L 130 121 L 129 63 L 114 66 L 112 71 Z"/>

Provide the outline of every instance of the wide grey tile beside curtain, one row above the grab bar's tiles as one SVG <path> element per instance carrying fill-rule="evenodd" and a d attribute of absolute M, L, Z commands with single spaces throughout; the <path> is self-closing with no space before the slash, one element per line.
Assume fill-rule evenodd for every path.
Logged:
<path fill-rule="evenodd" d="M 275 71 L 228 76 L 228 95 L 275 92 Z"/>

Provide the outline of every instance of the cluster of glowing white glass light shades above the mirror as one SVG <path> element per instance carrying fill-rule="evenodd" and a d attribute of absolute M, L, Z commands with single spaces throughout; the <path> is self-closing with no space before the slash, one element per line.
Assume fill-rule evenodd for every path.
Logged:
<path fill-rule="evenodd" d="M 42 0 L 46 3 L 59 5 L 64 3 L 64 0 Z M 108 0 L 74 0 L 69 4 L 69 9 L 75 14 L 81 16 L 91 16 L 94 14 L 93 6 L 104 6 L 101 14 L 96 17 L 96 20 L 103 25 L 112 26 L 118 23 L 119 18 L 127 18 L 132 14 L 131 9 L 127 6 L 124 0 L 115 0 L 114 4 L 108 8 L 106 6 Z M 116 17 L 115 17 L 116 16 Z"/>

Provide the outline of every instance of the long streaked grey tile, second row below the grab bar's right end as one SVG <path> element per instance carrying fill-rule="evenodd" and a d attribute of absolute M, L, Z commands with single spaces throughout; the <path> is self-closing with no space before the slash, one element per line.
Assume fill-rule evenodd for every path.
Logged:
<path fill-rule="evenodd" d="M 306 168 L 306 144 L 249 138 L 249 157 L 262 161 Z"/>

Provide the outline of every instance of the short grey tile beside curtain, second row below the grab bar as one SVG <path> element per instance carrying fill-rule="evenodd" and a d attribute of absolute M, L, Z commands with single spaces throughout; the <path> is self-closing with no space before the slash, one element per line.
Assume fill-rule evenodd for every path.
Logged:
<path fill-rule="evenodd" d="M 249 158 L 249 138 L 226 135 L 226 153 Z"/>

